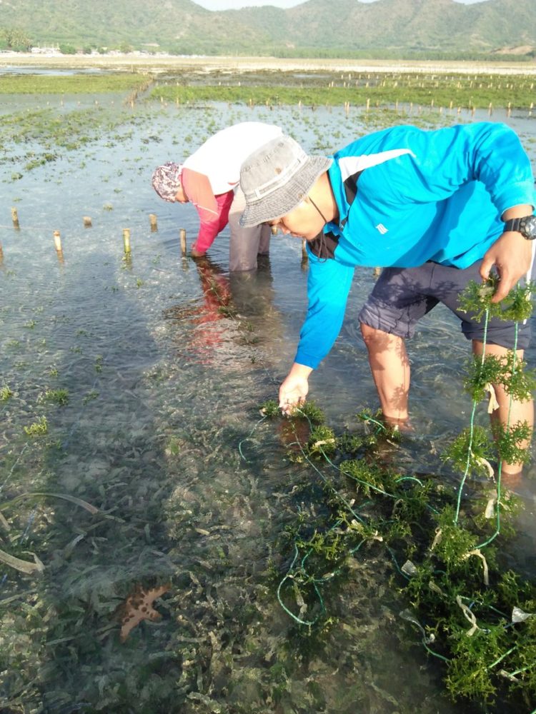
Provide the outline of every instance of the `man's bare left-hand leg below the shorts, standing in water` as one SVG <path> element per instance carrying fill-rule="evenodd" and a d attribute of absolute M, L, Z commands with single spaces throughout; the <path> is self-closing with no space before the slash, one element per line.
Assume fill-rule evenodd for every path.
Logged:
<path fill-rule="evenodd" d="M 369 353 L 372 378 L 386 421 L 407 422 L 410 392 L 410 361 L 404 340 L 396 335 L 361 324 L 361 334 Z"/>

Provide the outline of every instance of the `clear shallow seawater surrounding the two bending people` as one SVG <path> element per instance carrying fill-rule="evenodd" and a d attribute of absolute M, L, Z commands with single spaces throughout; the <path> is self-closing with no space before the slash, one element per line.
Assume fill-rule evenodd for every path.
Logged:
<path fill-rule="evenodd" d="M 2 111 L 31 104 L 18 101 Z M 43 106 L 66 112 L 79 101 Z M 259 406 L 275 398 L 304 316 L 301 242 L 274 236 L 257 274 L 229 276 L 227 231 L 207 260 L 183 257 L 179 228 L 192 243 L 197 213 L 151 187 L 154 166 L 228 124 L 271 121 L 329 152 L 367 131 L 362 114 L 84 101 L 124 119 L 31 170 L 27 147 L 4 142 L 0 165 L 0 388 L 11 391 L 0 401 L 1 501 L 49 494 L 2 511 L 11 524 L 2 550 L 44 565 L 39 577 L 0 575 L 3 710 L 470 712 L 446 698 L 440 666 L 398 617 L 380 550 L 326 595 L 337 622 L 323 638 L 298 632 L 280 607 L 267 570 L 304 507 L 294 487 L 314 474 L 289 462 L 280 426 L 262 421 Z M 510 122 L 534 161 L 535 120 Z M 342 334 L 311 380 L 336 431 L 377 406 L 357 324 L 373 283 L 371 270 L 357 271 Z M 466 357 L 455 319 L 436 308 L 410 345 L 409 473 L 452 479 L 437 454 L 468 423 Z M 65 403 L 54 401 L 60 391 Z M 45 423 L 46 433 L 25 431 Z M 530 570 L 536 488 L 527 479 L 520 492 L 516 557 Z M 117 608 L 138 585 L 169 586 L 155 604 L 162 618 L 121 643 Z"/>

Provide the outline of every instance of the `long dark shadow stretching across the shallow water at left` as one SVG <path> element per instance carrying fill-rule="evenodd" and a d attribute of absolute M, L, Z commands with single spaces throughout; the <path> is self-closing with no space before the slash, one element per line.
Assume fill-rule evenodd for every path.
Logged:
<path fill-rule="evenodd" d="M 6 713 L 177 710 L 172 688 L 162 687 L 181 672 L 169 605 L 156 605 L 161 621 L 140 623 L 124 643 L 119 637 L 127 596 L 139 586 L 173 590 L 180 575 L 167 555 L 163 514 L 173 483 L 147 381 L 159 355 L 134 278 L 119 271 L 118 280 L 110 265 L 96 278 L 92 263 L 103 258 L 78 271 L 67 261 L 51 276 L 43 319 L 54 361 L 37 380 L 41 396 L 51 393 L 45 385 L 61 385 L 69 401 L 41 400 L 48 431 L 15 437 L 2 473 L 7 500 L 21 491 L 64 496 L 24 499 L 16 514 L 26 521 L 17 545 L 35 552 L 44 571 L 29 582 L 10 570 L 2 583 Z"/>

